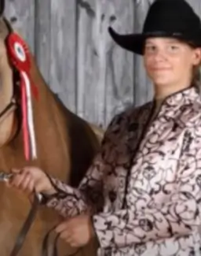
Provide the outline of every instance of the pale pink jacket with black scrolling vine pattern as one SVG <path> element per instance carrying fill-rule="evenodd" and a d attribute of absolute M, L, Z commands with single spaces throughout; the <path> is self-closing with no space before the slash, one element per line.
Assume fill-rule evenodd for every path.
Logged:
<path fill-rule="evenodd" d="M 89 209 L 98 255 L 200 255 L 201 101 L 195 87 L 115 116 L 79 189 L 47 206 L 64 216 Z"/>

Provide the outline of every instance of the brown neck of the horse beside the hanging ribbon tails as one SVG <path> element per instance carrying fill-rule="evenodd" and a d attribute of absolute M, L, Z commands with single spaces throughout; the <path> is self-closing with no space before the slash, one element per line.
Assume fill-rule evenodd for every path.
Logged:
<path fill-rule="evenodd" d="M 34 126 L 37 159 L 24 158 L 23 132 L 0 148 L 0 169 L 9 171 L 24 165 L 36 165 L 62 180 L 68 180 L 70 169 L 70 139 L 68 137 L 68 117 L 57 104 L 53 93 L 42 79 L 37 67 L 32 65 L 31 80 L 38 87 L 38 100 L 33 97 Z M 20 125 L 21 126 L 21 125 Z"/>

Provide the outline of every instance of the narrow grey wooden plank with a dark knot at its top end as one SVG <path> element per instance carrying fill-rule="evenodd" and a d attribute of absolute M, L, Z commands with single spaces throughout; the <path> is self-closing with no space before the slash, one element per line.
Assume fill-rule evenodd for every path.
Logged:
<path fill-rule="evenodd" d="M 93 0 L 88 0 L 88 2 L 77 1 L 77 113 L 88 121 L 96 122 L 94 98 L 97 84 L 94 83 L 94 75 L 97 71 L 97 64 L 94 61 L 96 50 L 93 46 L 92 35 L 96 14 L 94 6 L 92 6 L 93 3 Z M 91 103 L 90 109 L 88 109 L 89 102 Z"/>

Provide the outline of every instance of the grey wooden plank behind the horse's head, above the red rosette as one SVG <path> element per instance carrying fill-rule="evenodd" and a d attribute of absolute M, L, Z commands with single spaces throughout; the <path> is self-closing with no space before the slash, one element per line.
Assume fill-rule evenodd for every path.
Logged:
<path fill-rule="evenodd" d="M 35 2 L 33 0 L 6 0 L 5 17 L 12 21 L 13 28 L 20 32 L 35 52 Z"/>

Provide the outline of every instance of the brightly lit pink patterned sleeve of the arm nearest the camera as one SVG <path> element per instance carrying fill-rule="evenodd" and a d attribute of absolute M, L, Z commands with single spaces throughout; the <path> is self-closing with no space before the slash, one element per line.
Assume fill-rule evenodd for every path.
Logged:
<path fill-rule="evenodd" d="M 201 127 L 185 134 L 176 192 L 170 202 L 144 210 L 93 215 L 101 247 L 126 247 L 148 240 L 188 235 L 201 224 Z M 151 207 L 151 206 L 150 206 Z"/>

